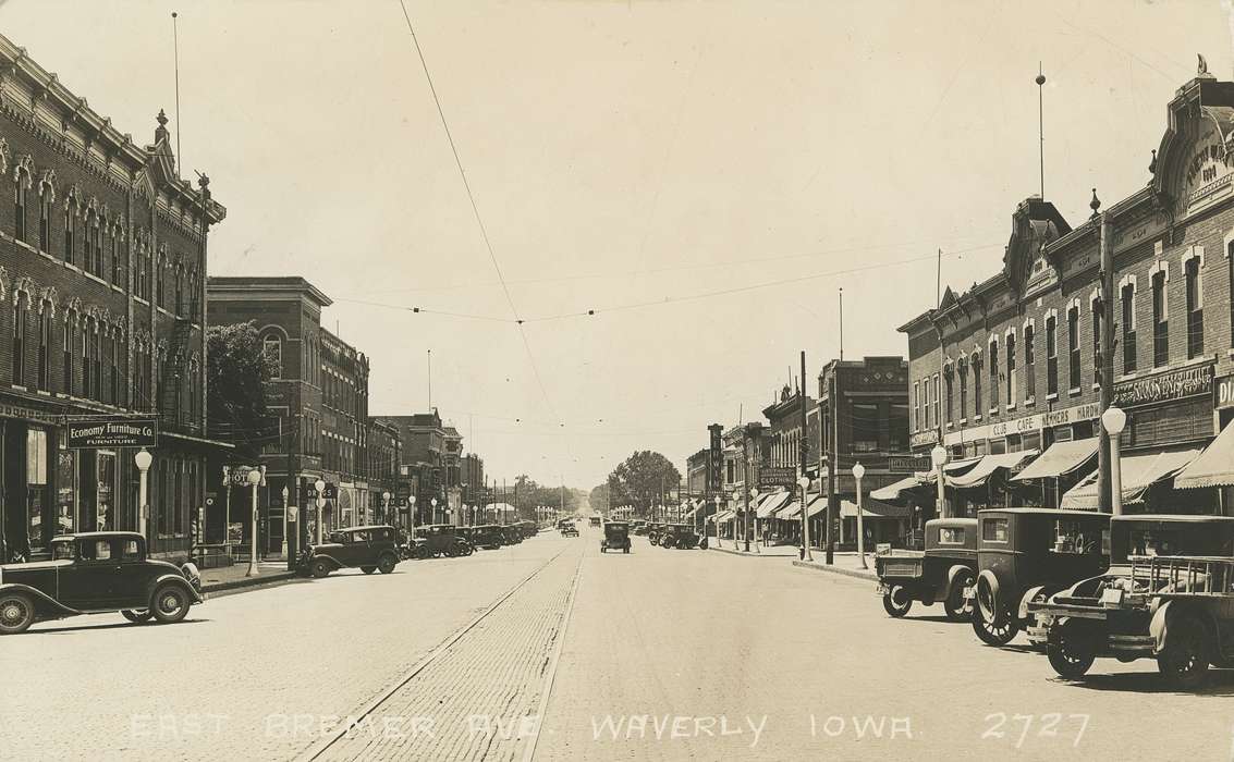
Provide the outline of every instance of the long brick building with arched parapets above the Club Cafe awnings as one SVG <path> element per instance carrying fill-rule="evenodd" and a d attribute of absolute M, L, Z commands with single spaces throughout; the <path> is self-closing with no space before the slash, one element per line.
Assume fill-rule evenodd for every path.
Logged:
<path fill-rule="evenodd" d="M 1170 477 L 1229 423 L 1214 390 L 1234 371 L 1234 83 L 1201 70 L 1167 116 L 1144 187 L 1104 208 L 1095 197 L 1101 213 L 1075 227 L 1029 197 L 1012 215 L 1002 268 L 901 327 L 912 444 L 924 454 L 942 441 L 972 469 L 948 478 L 961 510 L 1011 499 L 1017 469 L 1085 440 L 1056 450 L 1071 457 L 1051 456 L 1053 472 L 1034 469 L 1040 478 L 1017 499 L 1096 507 L 1095 486 L 1069 490 L 1091 481 L 1097 450 L 1103 222 L 1114 261 L 1113 398 L 1128 413 L 1124 492 L 1129 478 L 1143 487 L 1124 499 L 1176 508 Z M 1219 497 L 1187 502 L 1201 509 Z"/>

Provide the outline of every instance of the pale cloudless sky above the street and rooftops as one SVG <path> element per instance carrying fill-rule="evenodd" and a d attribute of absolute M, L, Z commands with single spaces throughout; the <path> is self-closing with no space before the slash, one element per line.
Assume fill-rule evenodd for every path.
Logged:
<path fill-rule="evenodd" d="M 399 0 L 4 0 L 0 31 L 138 143 L 167 109 L 227 207 L 210 274 L 329 295 L 374 414 L 436 406 L 490 476 L 581 488 L 684 470 L 801 350 L 816 392 L 840 289 L 845 359 L 905 355 L 939 249 L 944 285 L 993 275 L 1039 65 L 1074 224 L 1148 181 L 1197 53 L 1234 76 L 1230 0 L 406 10 L 453 149 Z"/>

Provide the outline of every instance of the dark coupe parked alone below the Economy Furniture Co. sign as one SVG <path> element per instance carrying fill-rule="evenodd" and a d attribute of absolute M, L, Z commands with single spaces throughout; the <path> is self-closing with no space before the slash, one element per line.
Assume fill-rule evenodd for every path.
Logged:
<path fill-rule="evenodd" d="M 133 531 L 89 531 L 52 539 L 48 561 L 0 566 L 0 635 L 36 621 L 120 612 L 135 624 L 180 621 L 201 603 L 196 566 L 146 557 Z"/>

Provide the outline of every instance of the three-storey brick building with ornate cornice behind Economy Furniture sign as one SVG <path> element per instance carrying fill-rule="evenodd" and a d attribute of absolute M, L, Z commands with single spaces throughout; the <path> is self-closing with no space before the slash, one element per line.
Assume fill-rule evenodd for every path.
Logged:
<path fill-rule="evenodd" d="M 0 36 L 0 560 L 142 526 L 137 449 L 70 449 L 81 417 L 158 419 L 146 536 L 154 555 L 193 543 L 223 446 L 204 435 L 202 275 L 226 211 L 157 121 L 135 143 Z"/>

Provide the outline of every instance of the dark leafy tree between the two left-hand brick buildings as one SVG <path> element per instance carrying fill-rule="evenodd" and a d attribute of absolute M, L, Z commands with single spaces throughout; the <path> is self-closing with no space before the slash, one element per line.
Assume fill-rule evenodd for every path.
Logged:
<path fill-rule="evenodd" d="M 274 364 L 263 350 L 255 323 L 211 326 L 206 333 L 210 435 L 255 456 L 271 435 L 265 386 L 273 377 Z"/>

